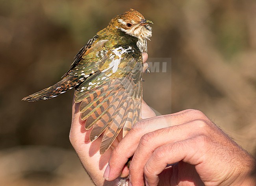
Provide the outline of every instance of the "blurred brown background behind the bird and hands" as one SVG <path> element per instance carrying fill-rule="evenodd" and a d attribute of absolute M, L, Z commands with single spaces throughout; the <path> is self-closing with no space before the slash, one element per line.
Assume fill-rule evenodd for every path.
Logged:
<path fill-rule="evenodd" d="M 0 0 L 1 185 L 92 185 L 69 142 L 74 92 L 21 99 L 58 82 L 89 38 L 130 8 L 154 22 L 149 57 L 171 58 L 166 72 L 160 63 L 143 77 L 148 105 L 199 109 L 256 155 L 255 0 Z"/>

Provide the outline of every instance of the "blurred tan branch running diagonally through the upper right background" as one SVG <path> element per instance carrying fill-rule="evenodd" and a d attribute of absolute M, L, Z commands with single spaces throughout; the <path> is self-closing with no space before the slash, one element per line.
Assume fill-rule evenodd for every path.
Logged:
<path fill-rule="evenodd" d="M 193 54 L 194 64 L 204 77 L 217 89 L 224 93 L 241 109 L 252 108 L 255 105 L 255 89 L 245 80 L 239 71 L 235 71 L 210 42 L 212 33 L 203 19 L 209 17 L 206 2 L 197 6 L 189 4 L 184 8 L 185 28 L 182 27 L 186 46 L 185 52 Z M 205 11 L 201 11 L 205 9 Z M 195 12 L 197 14 L 195 14 Z M 204 13 L 204 15 L 200 15 Z M 208 14 L 208 15 L 207 15 Z"/>

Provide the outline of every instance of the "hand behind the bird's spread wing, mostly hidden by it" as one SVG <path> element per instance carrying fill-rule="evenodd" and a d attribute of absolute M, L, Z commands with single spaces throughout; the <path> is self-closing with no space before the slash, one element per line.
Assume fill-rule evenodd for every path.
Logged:
<path fill-rule="evenodd" d="M 147 53 L 143 53 L 144 71 L 147 69 Z M 96 185 L 107 185 L 114 184 L 114 182 L 106 182 L 103 178 L 104 170 L 108 164 L 109 157 L 111 155 L 112 149 L 117 146 L 119 141 L 122 139 L 122 135 L 119 135 L 117 139 L 113 142 L 111 148 L 107 150 L 104 154 L 100 155 L 100 142 L 102 137 L 98 137 L 94 142 L 89 140 L 90 130 L 85 129 L 85 121 L 80 119 L 79 112 L 80 104 L 75 104 L 73 100 L 72 106 L 72 124 L 70 129 L 70 142 L 74 147 L 78 157 L 80 158 L 85 171 L 89 174 L 91 179 Z M 150 118 L 156 116 L 154 111 L 143 101 L 142 102 L 142 119 Z M 128 169 L 123 170 L 123 175 L 128 175 Z"/>

